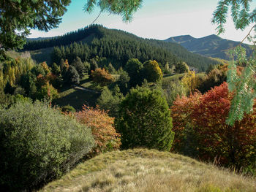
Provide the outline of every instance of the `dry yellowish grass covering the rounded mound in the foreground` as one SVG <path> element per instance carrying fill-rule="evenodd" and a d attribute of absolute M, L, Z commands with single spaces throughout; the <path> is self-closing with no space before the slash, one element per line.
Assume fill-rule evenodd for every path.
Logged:
<path fill-rule="evenodd" d="M 157 150 L 105 153 L 42 191 L 256 191 L 256 181 L 182 155 Z"/>

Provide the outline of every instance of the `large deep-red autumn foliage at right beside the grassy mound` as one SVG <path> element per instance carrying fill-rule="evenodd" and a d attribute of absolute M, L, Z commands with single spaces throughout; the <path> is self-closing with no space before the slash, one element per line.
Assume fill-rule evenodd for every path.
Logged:
<path fill-rule="evenodd" d="M 256 161 L 256 112 L 245 115 L 234 126 L 227 125 L 225 120 L 232 98 L 224 82 L 203 95 L 195 93 L 176 99 L 172 107 L 176 133 L 173 150 L 193 151 L 193 155 L 205 161 L 217 158 L 226 166 L 253 164 Z"/>

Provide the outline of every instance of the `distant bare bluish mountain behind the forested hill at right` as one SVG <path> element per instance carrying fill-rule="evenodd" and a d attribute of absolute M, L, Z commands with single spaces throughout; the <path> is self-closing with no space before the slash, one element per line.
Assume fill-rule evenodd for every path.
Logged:
<path fill-rule="evenodd" d="M 197 53 L 212 58 L 222 58 L 225 60 L 230 60 L 230 57 L 227 55 L 225 50 L 236 47 L 236 45 L 240 43 L 228 39 L 222 39 L 214 34 L 202 38 L 182 35 L 170 37 L 169 39 L 166 39 L 165 42 L 176 42 L 192 53 Z M 247 55 L 252 53 L 252 46 L 242 44 L 242 47 L 246 48 Z"/>

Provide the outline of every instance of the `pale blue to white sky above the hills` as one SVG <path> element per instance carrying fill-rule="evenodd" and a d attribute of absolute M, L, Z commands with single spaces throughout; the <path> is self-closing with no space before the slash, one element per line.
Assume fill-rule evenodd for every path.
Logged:
<path fill-rule="evenodd" d="M 86 0 L 72 0 L 67 12 L 62 17 L 59 28 L 48 32 L 31 30 L 30 38 L 54 37 L 66 34 L 88 26 L 97 18 L 95 23 L 107 28 L 116 28 L 148 39 L 167 39 L 180 35 L 191 35 L 195 38 L 217 34 L 211 23 L 218 0 L 144 0 L 143 6 L 133 15 L 131 23 L 124 23 L 120 15 L 102 13 L 99 9 L 89 14 L 83 12 Z M 256 2 L 252 2 L 251 9 L 255 9 Z M 231 18 L 227 18 L 224 39 L 241 41 L 250 28 L 237 31 Z"/>

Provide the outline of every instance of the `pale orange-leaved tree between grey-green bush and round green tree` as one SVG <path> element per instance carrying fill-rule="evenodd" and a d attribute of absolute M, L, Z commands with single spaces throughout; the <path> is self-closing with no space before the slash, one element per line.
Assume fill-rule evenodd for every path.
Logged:
<path fill-rule="evenodd" d="M 108 116 L 99 107 L 87 107 L 83 105 L 83 110 L 75 113 L 75 118 L 91 128 L 96 146 L 91 151 L 91 156 L 110 150 L 118 150 L 121 145 L 120 134 L 116 133 L 113 127 L 114 118 Z"/>

